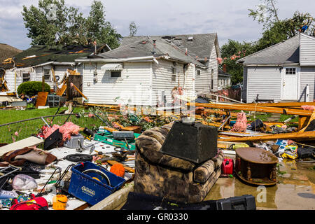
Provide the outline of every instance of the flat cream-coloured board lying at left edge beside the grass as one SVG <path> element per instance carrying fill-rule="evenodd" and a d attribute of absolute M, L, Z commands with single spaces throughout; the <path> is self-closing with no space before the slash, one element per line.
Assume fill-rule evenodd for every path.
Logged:
<path fill-rule="evenodd" d="M 20 141 L 15 141 L 11 144 L 0 147 L 0 157 L 10 151 L 18 150 L 25 147 L 38 146 L 40 144 L 43 144 L 43 142 L 43 139 L 38 139 L 37 137 L 29 137 Z"/>

